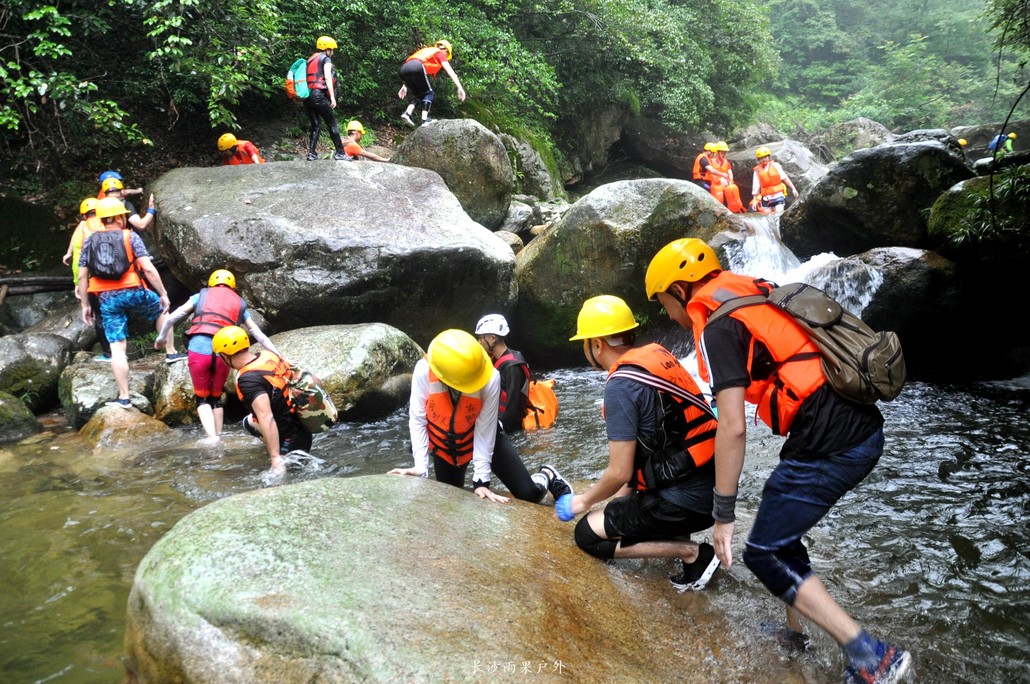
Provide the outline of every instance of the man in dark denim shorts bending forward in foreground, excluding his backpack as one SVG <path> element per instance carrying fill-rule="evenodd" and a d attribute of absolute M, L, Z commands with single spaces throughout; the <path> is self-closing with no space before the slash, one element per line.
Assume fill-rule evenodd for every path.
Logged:
<path fill-rule="evenodd" d="M 708 324 L 719 306 L 760 294 L 754 278 L 723 271 L 696 238 L 662 247 L 645 276 L 648 299 L 693 330 L 697 369 L 715 392 L 714 544 L 732 563 L 737 483 L 747 440 L 745 402 L 775 434 L 786 436 L 780 463 L 766 480 L 744 550 L 744 562 L 787 605 L 788 629 L 803 630 L 798 614 L 830 635 L 847 659 L 846 682 L 897 682 L 911 655 L 870 637 L 815 575 L 802 541 L 836 502 L 872 471 L 884 449 L 884 418 L 876 404 L 838 396 L 823 375 L 819 349 L 790 314 L 771 304 L 734 309 Z M 790 360 L 787 362 L 786 360 Z"/>

